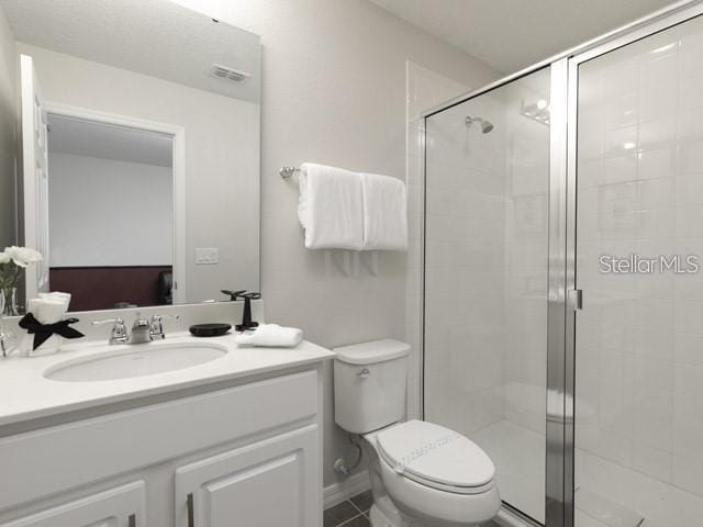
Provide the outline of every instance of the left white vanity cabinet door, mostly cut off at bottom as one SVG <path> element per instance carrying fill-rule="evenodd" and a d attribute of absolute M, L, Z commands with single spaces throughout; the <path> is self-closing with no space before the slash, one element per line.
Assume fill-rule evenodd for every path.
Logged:
<path fill-rule="evenodd" d="M 146 527 L 144 482 L 67 502 L 0 527 Z"/>

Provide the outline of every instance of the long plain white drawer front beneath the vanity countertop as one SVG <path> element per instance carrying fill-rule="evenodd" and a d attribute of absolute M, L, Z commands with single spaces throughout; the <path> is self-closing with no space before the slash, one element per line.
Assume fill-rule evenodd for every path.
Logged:
<path fill-rule="evenodd" d="M 305 371 L 0 439 L 0 511 L 267 429 L 314 421 Z M 31 470 L 29 468 L 31 467 Z"/>

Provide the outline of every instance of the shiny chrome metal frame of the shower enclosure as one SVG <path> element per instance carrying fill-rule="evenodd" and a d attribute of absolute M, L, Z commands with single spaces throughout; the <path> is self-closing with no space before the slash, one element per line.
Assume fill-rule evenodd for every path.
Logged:
<path fill-rule="evenodd" d="M 537 63 L 483 88 L 457 97 L 423 113 L 432 115 L 476 99 L 539 69 L 550 68 L 549 248 L 547 291 L 547 385 L 545 527 L 574 526 L 574 401 L 576 317 L 581 304 L 577 288 L 577 147 L 579 66 L 620 47 L 703 15 L 703 0 L 683 0 L 557 56 Z M 426 141 L 423 164 L 426 210 Z M 426 214 L 423 221 L 423 279 L 425 271 Z M 424 321 L 421 369 L 421 412 L 424 418 Z M 504 505 L 507 505 L 504 503 Z M 539 526 L 518 509 L 507 509 L 528 525 Z"/>

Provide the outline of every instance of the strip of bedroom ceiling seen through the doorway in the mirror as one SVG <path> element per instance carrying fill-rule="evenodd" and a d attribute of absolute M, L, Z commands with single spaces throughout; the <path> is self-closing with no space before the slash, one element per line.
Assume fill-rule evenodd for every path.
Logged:
<path fill-rule="evenodd" d="M 170 167 L 169 135 L 82 119 L 48 115 L 48 152 Z"/>

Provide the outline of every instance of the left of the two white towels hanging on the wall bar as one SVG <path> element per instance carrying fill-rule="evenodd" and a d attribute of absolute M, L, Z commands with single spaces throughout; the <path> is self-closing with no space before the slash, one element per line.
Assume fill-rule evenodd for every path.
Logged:
<path fill-rule="evenodd" d="M 309 249 L 360 250 L 364 244 L 361 178 L 342 168 L 304 162 L 298 217 Z"/>

